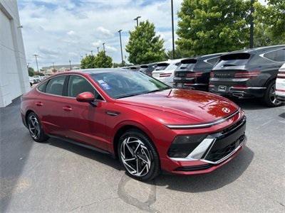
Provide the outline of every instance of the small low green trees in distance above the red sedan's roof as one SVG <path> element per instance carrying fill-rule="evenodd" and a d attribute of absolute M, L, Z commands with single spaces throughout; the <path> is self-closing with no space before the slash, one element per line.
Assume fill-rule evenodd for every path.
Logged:
<path fill-rule="evenodd" d="M 90 68 L 109 68 L 113 65 L 113 60 L 106 55 L 104 51 L 100 51 L 97 55 L 87 55 L 81 60 L 82 69 Z"/>

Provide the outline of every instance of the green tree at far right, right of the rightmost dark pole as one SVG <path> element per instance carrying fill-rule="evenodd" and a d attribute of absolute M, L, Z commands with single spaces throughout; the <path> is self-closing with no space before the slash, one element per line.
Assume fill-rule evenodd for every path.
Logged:
<path fill-rule="evenodd" d="M 285 43 L 285 1 L 255 2 L 254 9 L 254 46 Z"/>

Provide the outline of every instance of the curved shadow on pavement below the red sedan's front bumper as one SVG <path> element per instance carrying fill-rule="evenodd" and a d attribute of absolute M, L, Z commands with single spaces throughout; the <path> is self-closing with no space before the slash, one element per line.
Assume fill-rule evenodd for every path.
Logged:
<path fill-rule="evenodd" d="M 212 173 L 188 176 L 160 175 L 156 178 L 155 185 L 167 186 L 168 190 L 192 193 L 217 190 L 237 180 L 247 170 L 253 158 L 254 152 L 245 147 L 236 158 Z"/>

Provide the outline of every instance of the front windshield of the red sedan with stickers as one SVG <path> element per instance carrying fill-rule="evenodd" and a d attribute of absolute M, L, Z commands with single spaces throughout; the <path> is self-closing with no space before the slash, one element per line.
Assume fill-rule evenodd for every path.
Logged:
<path fill-rule="evenodd" d="M 98 72 L 91 74 L 91 77 L 114 99 L 170 89 L 152 77 L 131 70 Z"/>

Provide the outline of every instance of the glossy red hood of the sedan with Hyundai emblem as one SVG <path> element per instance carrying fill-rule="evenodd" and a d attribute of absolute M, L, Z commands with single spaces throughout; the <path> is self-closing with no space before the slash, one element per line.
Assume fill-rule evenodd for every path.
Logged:
<path fill-rule="evenodd" d="M 186 89 L 167 89 L 118 100 L 164 124 L 204 124 L 225 118 L 239 109 L 224 97 Z"/>

